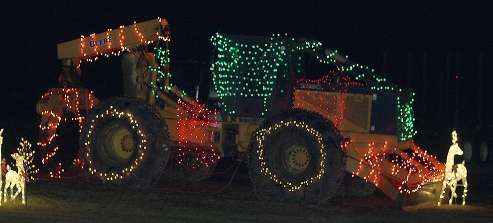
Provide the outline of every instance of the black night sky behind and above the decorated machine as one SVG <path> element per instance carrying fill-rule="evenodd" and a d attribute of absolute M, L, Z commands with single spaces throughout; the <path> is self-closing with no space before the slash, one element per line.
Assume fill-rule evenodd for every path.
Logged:
<path fill-rule="evenodd" d="M 207 83 L 210 37 L 216 32 L 287 33 L 315 39 L 403 87 L 412 87 L 416 92 L 416 142 L 444 160 L 448 147 L 442 146 L 449 144 L 454 128 L 464 129 L 463 135 L 491 130 L 493 10 L 492 3 L 485 2 L 2 3 L 0 128 L 6 129 L 4 136 L 10 140 L 4 140 L 4 145 L 15 147 L 12 141 L 20 136 L 33 144 L 37 141 L 36 102 L 57 85 L 61 71 L 57 43 L 160 16 L 171 26 L 170 50 L 175 62 L 171 68 L 176 71 L 173 75 L 179 75 L 177 85 L 189 90 Z M 483 63 L 479 62 L 481 54 Z M 121 94 L 118 63 L 118 59 L 99 65 L 83 63 L 82 83 L 101 99 Z"/>

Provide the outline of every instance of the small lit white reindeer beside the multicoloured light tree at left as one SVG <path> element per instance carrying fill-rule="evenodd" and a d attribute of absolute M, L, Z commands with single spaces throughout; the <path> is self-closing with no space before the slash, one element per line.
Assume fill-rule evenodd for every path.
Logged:
<path fill-rule="evenodd" d="M 22 192 L 22 204 L 25 204 L 24 186 L 26 182 L 25 170 L 24 170 L 24 157 L 18 153 L 12 153 L 12 158 L 15 159 L 15 165 L 17 166 L 17 172 L 10 169 L 7 165 L 8 172 L 5 174 L 5 188 L 3 189 L 3 202 L 7 201 L 7 188 L 10 187 L 10 199 L 13 200 L 19 193 Z M 17 188 L 17 192 L 12 195 L 13 187 Z"/>

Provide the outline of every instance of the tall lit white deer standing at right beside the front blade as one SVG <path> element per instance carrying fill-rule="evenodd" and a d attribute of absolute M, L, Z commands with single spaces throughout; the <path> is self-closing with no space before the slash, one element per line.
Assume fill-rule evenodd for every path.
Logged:
<path fill-rule="evenodd" d="M 445 164 L 445 179 L 443 181 L 442 194 L 438 199 L 438 205 L 440 206 L 442 199 L 444 198 L 447 186 L 450 188 L 451 195 L 449 200 L 449 205 L 452 204 L 452 199 L 457 198 L 457 193 L 455 190 L 457 188 L 457 183 L 462 180 L 464 185 L 464 193 L 462 195 L 462 205 L 466 204 L 467 196 L 467 169 L 464 166 L 464 161 L 462 163 L 454 164 L 454 156 L 462 155 L 464 152 L 457 144 L 457 132 L 452 133 L 452 146 L 450 146 L 449 153 L 447 154 L 447 162 Z"/>

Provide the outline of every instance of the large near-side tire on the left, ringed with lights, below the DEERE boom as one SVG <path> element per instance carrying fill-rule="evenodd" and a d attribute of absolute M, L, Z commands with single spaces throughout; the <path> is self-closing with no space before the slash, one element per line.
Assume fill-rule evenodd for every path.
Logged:
<path fill-rule="evenodd" d="M 89 174 L 130 187 L 156 182 L 169 158 L 166 123 L 136 98 L 109 98 L 96 106 L 79 142 Z"/>

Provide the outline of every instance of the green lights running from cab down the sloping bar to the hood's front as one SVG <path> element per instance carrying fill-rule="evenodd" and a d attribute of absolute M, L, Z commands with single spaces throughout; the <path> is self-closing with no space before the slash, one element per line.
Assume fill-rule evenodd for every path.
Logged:
<path fill-rule="evenodd" d="M 229 115 L 258 118 L 270 115 L 274 96 L 290 93 L 294 78 L 305 76 L 304 58 L 309 54 L 321 64 L 330 65 L 329 72 L 339 71 L 353 76 L 358 83 L 365 83 L 364 88 L 369 92 L 386 91 L 399 96 L 396 96 L 399 139 L 406 141 L 416 135 L 414 93 L 409 97 L 404 95 L 392 81 L 376 74 L 374 69 L 350 62 L 348 56 L 338 54 L 337 50 L 328 51 L 327 55 L 320 53 L 323 50 L 320 42 L 280 34 L 256 37 L 219 33 L 211 37 L 211 42 L 217 49 L 217 61 L 211 67 L 214 89 Z M 256 113 L 242 113 L 246 102 L 261 108 Z"/>

